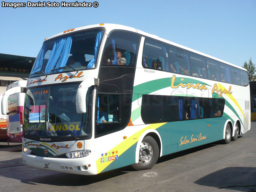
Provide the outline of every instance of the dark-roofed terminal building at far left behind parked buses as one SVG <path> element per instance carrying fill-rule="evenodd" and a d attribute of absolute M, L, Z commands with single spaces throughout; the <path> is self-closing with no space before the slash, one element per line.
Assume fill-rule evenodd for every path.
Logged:
<path fill-rule="evenodd" d="M 0 94 L 4 94 L 9 84 L 27 80 L 35 60 L 35 57 L 0 53 Z"/>

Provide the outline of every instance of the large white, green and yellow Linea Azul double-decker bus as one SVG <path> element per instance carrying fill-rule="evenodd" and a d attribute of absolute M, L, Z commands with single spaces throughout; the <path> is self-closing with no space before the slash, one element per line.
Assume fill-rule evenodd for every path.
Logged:
<path fill-rule="evenodd" d="M 250 129 L 244 68 L 115 24 L 44 41 L 28 78 L 22 158 L 27 166 L 93 175 Z"/>

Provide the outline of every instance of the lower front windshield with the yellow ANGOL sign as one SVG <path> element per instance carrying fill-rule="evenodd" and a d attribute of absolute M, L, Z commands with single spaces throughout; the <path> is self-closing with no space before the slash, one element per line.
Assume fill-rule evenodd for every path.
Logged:
<path fill-rule="evenodd" d="M 28 89 L 24 105 L 24 132 L 35 136 L 89 136 L 92 88 L 86 93 L 86 113 L 76 113 L 79 84 Z"/>

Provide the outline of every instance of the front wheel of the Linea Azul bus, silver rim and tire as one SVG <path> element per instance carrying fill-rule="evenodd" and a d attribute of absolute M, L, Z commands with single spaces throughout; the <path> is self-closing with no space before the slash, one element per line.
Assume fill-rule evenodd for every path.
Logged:
<path fill-rule="evenodd" d="M 140 144 L 139 163 L 135 163 L 132 167 L 137 170 L 151 169 L 159 156 L 159 148 L 156 140 L 151 136 L 143 138 Z"/>

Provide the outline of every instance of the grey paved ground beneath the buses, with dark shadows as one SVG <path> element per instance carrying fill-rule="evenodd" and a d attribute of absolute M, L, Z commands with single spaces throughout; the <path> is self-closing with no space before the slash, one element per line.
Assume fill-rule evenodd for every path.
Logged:
<path fill-rule="evenodd" d="M 228 145 L 212 143 L 160 158 L 150 170 L 130 167 L 94 176 L 26 167 L 21 144 L 0 143 L 0 191 L 256 192 L 256 122 Z"/>

